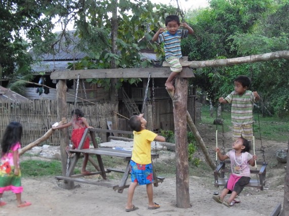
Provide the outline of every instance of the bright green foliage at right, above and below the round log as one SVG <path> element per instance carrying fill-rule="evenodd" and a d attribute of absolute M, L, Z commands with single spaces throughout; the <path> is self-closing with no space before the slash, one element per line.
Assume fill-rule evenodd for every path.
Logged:
<path fill-rule="evenodd" d="M 182 50 L 191 60 L 214 60 L 288 50 L 288 1 L 213 0 L 187 22 L 194 37 L 184 40 Z M 247 75 L 249 90 L 262 97 L 263 115 L 287 116 L 289 106 L 287 61 L 197 69 L 194 85 L 207 93 L 215 106 L 219 97 L 233 89 L 238 75 Z"/>

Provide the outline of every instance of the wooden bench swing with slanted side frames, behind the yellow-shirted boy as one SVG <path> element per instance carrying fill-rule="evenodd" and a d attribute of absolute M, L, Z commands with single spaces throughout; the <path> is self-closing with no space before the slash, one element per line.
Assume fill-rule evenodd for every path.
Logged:
<path fill-rule="evenodd" d="M 58 180 L 65 180 L 65 181 L 75 181 L 75 182 L 81 182 L 81 183 L 87 183 L 87 184 L 94 184 L 94 185 L 103 185 L 103 186 L 107 186 L 107 183 L 95 183 L 95 182 L 91 182 L 85 179 L 80 179 L 80 177 L 84 177 L 84 176 L 92 176 L 92 175 L 101 175 L 101 177 L 103 179 L 106 179 L 106 173 L 112 172 L 112 171 L 116 171 L 116 172 L 121 172 L 123 173 L 123 177 L 121 179 L 121 182 L 119 185 L 115 185 L 113 186 L 114 190 L 118 190 L 119 193 L 123 192 L 124 188 L 128 188 L 129 185 L 126 185 L 128 176 L 129 176 L 129 171 L 130 171 L 130 159 L 131 159 L 131 152 L 129 151 L 120 151 L 120 150 L 114 150 L 114 149 L 109 149 L 109 148 L 98 148 L 98 144 L 95 141 L 95 134 L 92 132 L 107 132 L 109 130 L 106 129 L 95 129 L 95 128 L 86 128 L 84 135 L 82 137 L 82 140 L 80 142 L 80 145 L 78 147 L 78 149 L 73 149 L 73 150 L 69 150 L 69 152 L 71 153 L 75 153 L 75 157 L 73 157 L 71 159 L 71 162 L 69 164 L 69 167 L 67 169 L 66 175 L 65 176 L 56 176 L 55 178 Z M 117 131 L 118 133 L 123 133 L 123 131 Z M 91 141 L 93 143 L 94 148 L 89 148 L 89 149 L 83 149 L 83 145 L 84 145 L 84 141 L 86 139 L 86 136 L 88 135 L 88 133 L 91 136 Z M 127 134 L 132 134 L 132 132 L 125 132 Z M 80 158 L 81 153 L 88 153 L 88 154 L 94 154 L 96 155 L 98 164 L 95 163 L 91 157 L 89 157 L 89 161 L 92 163 L 92 165 L 96 168 L 96 172 L 91 172 L 90 174 L 84 175 L 84 174 L 78 174 L 78 175 L 74 175 L 74 169 L 75 166 L 77 164 L 78 159 Z M 127 161 L 127 166 L 125 170 L 117 170 L 117 169 L 104 169 L 104 165 L 102 162 L 102 155 L 106 155 L 106 156 L 112 156 L 112 157 L 122 157 L 125 158 L 125 160 Z M 152 154 L 152 159 L 154 158 L 158 158 L 159 154 L 153 153 Z M 152 161 L 153 164 L 153 161 Z M 164 181 L 164 178 L 161 177 L 157 177 L 156 176 L 156 172 L 154 169 L 154 164 L 153 164 L 153 178 L 154 178 L 154 186 L 157 187 L 158 183 L 162 183 Z"/>

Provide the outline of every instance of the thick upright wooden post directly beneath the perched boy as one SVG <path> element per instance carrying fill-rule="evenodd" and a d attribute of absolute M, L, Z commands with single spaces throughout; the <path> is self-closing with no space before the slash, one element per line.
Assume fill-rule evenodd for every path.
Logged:
<path fill-rule="evenodd" d="M 175 94 L 173 97 L 175 163 L 176 163 L 176 206 L 189 208 L 189 159 L 187 142 L 187 97 L 188 80 L 175 78 Z"/>

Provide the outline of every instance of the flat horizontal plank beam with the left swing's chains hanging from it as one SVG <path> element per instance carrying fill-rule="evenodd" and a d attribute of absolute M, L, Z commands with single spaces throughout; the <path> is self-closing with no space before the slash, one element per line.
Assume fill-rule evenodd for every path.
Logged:
<path fill-rule="evenodd" d="M 69 70 L 54 71 L 51 79 L 80 79 L 88 78 L 148 78 L 151 73 L 152 78 L 166 78 L 171 73 L 170 68 L 117 68 L 117 69 L 89 69 L 89 70 Z M 184 67 L 179 73 L 180 77 L 195 77 L 191 68 Z"/>

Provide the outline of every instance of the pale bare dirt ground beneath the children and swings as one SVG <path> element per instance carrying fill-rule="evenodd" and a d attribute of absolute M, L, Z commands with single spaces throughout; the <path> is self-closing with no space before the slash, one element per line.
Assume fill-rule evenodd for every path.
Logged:
<path fill-rule="evenodd" d="M 215 131 L 206 125 L 197 125 L 208 151 L 212 158 L 215 153 Z M 225 135 L 227 145 L 231 144 L 231 134 Z M 65 190 L 61 187 L 62 182 L 54 177 L 49 178 L 23 178 L 24 192 L 23 200 L 32 202 L 25 208 L 17 208 L 15 195 L 11 192 L 4 193 L 3 199 L 8 203 L 0 207 L 1 215 L 270 215 L 278 203 L 283 204 L 285 175 L 284 166 L 276 160 L 276 150 L 284 149 L 287 143 L 278 143 L 272 140 L 262 140 L 265 147 L 265 159 L 269 162 L 267 166 L 267 183 L 264 191 L 254 188 L 245 188 L 240 194 L 241 203 L 236 203 L 228 208 L 223 204 L 212 200 L 214 191 L 221 192 L 222 188 L 213 186 L 213 171 L 204 174 L 204 177 L 190 177 L 190 208 L 176 207 L 176 183 L 175 177 L 166 178 L 159 187 L 154 187 L 154 201 L 161 208 L 148 209 L 146 188 L 139 186 L 135 190 L 133 203 L 139 207 L 138 210 L 126 212 L 125 203 L 127 189 L 123 193 L 114 191 L 112 187 L 95 186 L 89 184 L 75 183 L 76 188 Z M 260 149 L 260 140 L 256 141 L 256 154 L 263 160 Z M 226 149 L 226 151 L 228 148 Z M 168 153 L 161 154 L 159 160 L 166 160 Z M 196 156 L 204 159 L 202 152 L 196 152 Z M 103 181 L 96 179 L 96 181 Z M 104 181 L 117 185 L 118 180 Z"/>

